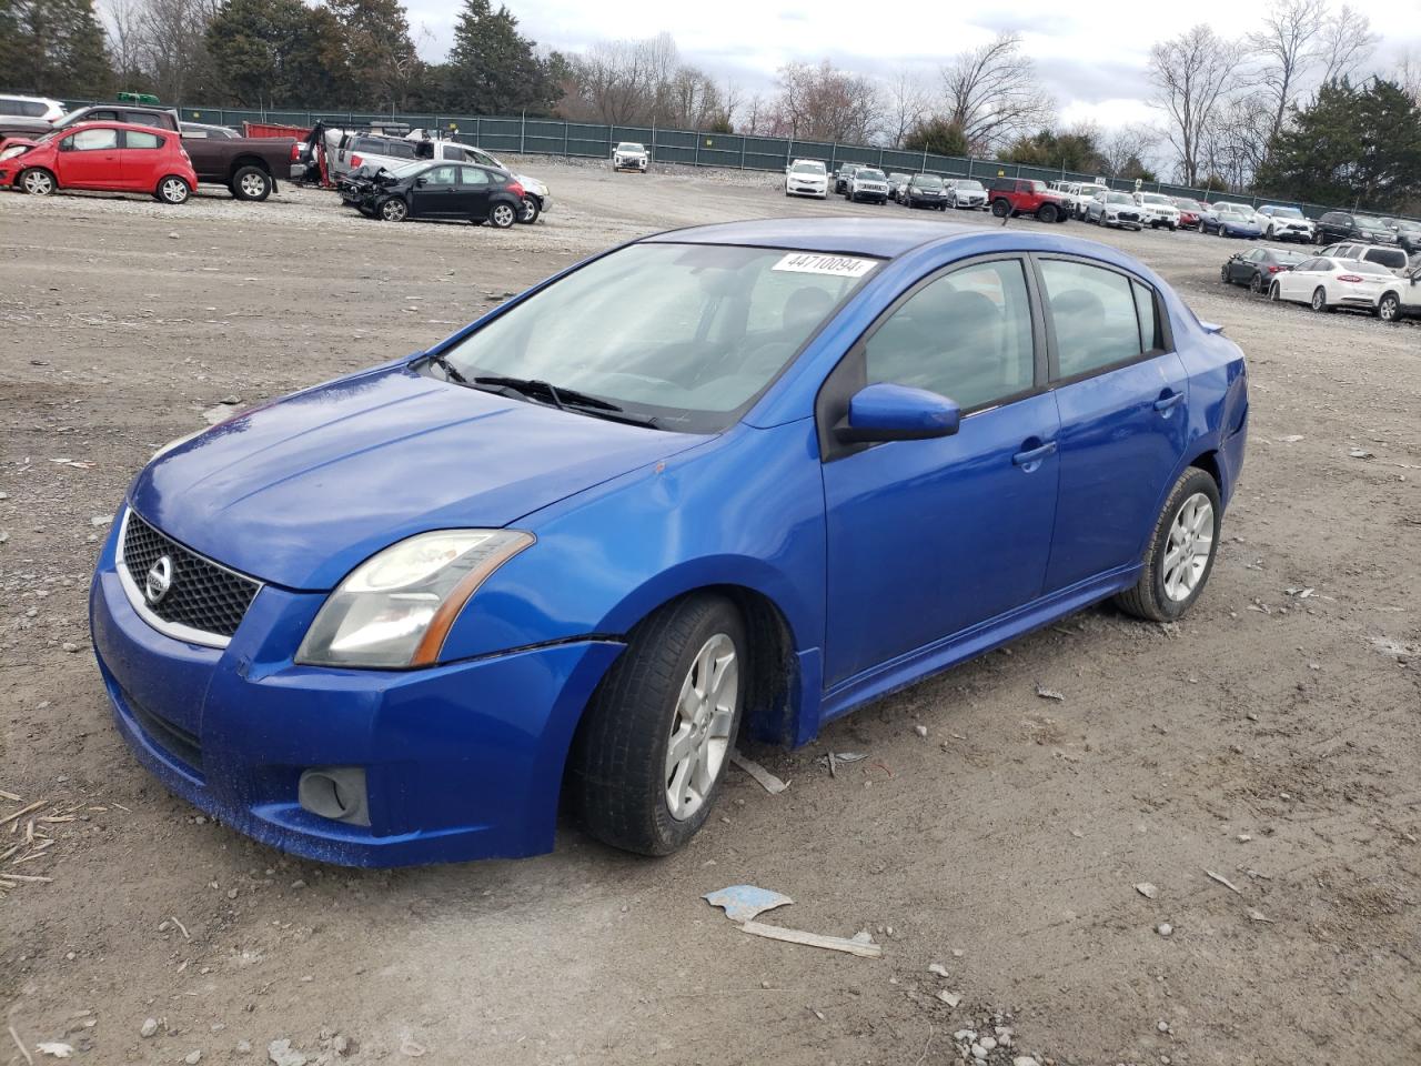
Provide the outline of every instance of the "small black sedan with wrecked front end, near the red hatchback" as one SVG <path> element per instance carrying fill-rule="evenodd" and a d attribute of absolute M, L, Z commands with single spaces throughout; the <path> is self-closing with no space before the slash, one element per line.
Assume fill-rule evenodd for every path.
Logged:
<path fill-rule="evenodd" d="M 354 176 L 342 199 L 372 219 L 468 219 L 507 229 L 523 210 L 523 186 L 507 171 L 419 161 Z"/>

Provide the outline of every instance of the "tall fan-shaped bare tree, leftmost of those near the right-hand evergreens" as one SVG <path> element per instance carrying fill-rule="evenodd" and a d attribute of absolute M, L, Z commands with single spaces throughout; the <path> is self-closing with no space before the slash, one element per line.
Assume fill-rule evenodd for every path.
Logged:
<path fill-rule="evenodd" d="M 1150 50 L 1152 104 L 1165 112 L 1167 136 L 1189 185 L 1199 181 L 1205 135 L 1239 82 L 1243 47 L 1201 23 Z"/>

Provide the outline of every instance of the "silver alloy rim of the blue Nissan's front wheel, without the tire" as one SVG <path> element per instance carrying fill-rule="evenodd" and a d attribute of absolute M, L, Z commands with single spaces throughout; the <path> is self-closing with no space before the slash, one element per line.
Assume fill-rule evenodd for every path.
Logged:
<path fill-rule="evenodd" d="M 735 641 L 708 640 L 691 662 L 666 739 L 666 809 L 685 822 L 706 802 L 730 755 L 730 728 L 740 698 Z"/>

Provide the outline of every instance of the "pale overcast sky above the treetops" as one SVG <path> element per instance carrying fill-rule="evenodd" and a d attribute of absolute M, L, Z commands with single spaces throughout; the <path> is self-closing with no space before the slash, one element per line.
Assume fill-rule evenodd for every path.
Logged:
<path fill-rule="evenodd" d="M 1340 0 L 1333 0 L 1339 6 Z M 411 27 L 428 60 L 443 57 L 453 38 L 456 4 L 406 0 Z M 497 4 L 497 0 L 495 0 Z M 1225 36 L 1243 36 L 1262 21 L 1260 4 L 1093 4 L 1059 0 L 507 0 L 523 33 L 539 44 L 580 51 L 617 37 L 665 30 L 682 57 L 747 91 L 767 91 L 774 71 L 793 60 L 830 58 L 840 67 L 890 77 L 921 71 L 935 81 L 944 58 L 1017 31 L 1067 122 L 1101 125 L 1150 121 L 1144 78 L 1150 45 L 1205 21 Z M 1421 58 L 1421 0 L 1351 0 L 1385 41 L 1374 64 L 1390 67 L 1408 48 Z"/>

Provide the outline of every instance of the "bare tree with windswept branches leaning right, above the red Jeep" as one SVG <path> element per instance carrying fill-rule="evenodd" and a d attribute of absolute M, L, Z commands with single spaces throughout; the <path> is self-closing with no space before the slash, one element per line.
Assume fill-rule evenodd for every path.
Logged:
<path fill-rule="evenodd" d="M 959 53 L 942 68 L 945 114 L 975 152 L 986 152 L 1047 125 L 1054 107 L 1015 33 Z"/>

